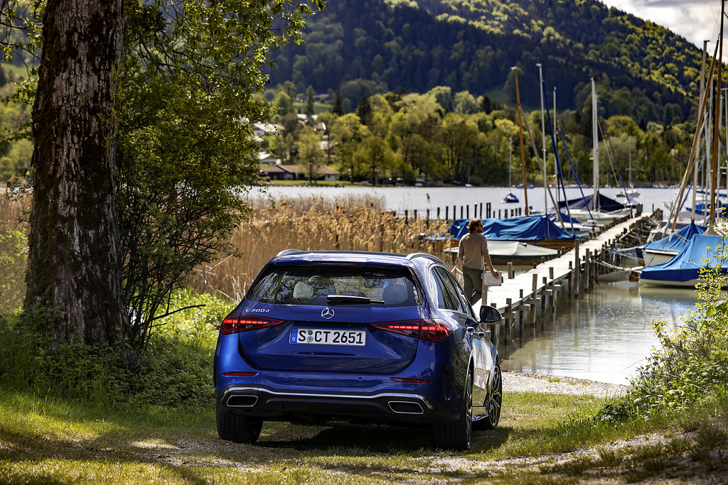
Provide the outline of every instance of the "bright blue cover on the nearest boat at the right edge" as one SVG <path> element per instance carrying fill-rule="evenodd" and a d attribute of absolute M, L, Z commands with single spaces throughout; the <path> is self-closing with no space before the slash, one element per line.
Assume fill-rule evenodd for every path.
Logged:
<path fill-rule="evenodd" d="M 697 279 L 700 268 L 714 268 L 721 254 L 721 246 L 726 240 L 724 236 L 708 236 L 696 234 L 687 246 L 681 249 L 673 259 L 661 265 L 648 266 L 640 273 L 640 279 L 653 281 L 690 281 Z M 708 263 L 704 260 L 708 260 Z M 728 271 L 728 260 L 719 261 L 723 272 Z"/>

